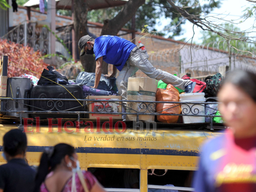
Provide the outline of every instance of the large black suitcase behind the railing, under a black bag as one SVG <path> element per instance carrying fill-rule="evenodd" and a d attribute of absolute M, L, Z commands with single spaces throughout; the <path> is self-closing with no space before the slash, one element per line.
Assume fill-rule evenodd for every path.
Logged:
<path fill-rule="evenodd" d="M 77 99 L 83 99 L 82 87 L 77 85 L 63 85 L 69 92 Z M 84 111 L 82 101 L 59 101 L 51 99 L 75 99 L 64 87 L 61 85 L 37 85 L 31 89 L 30 98 L 48 98 L 49 100 L 31 100 L 30 111 Z M 31 114 L 32 118 L 40 117 L 47 118 L 77 118 L 77 114 Z M 82 115 L 80 116 L 83 117 Z"/>

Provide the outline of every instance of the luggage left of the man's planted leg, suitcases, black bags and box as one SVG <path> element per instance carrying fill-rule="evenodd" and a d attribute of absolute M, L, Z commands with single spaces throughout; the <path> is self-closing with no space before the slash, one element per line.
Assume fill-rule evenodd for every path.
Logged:
<path fill-rule="evenodd" d="M 77 118 L 77 114 L 69 114 L 68 112 L 88 111 L 91 105 L 89 104 L 89 107 L 86 108 L 84 107 L 85 105 L 83 105 L 83 101 L 79 100 L 88 99 L 89 96 L 94 97 L 93 99 L 121 100 L 121 97 L 118 96 L 115 77 L 105 78 L 102 74 L 98 89 L 93 88 L 94 81 L 95 73 L 80 72 L 76 80 L 68 80 L 65 75 L 57 72 L 51 66 L 48 66 L 47 69 L 43 70 L 40 79 L 28 74 L 23 74 L 20 77 L 11 77 L 7 80 L 7 97 L 31 98 L 31 100 L 7 100 L 5 108 L 9 111 L 67 112 L 66 114 L 33 113 L 30 115 L 28 113 L 23 113 L 23 118 Z M 58 99 L 77 99 L 77 101 L 65 101 Z M 102 103 L 99 105 L 101 104 Z M 103 105 L 94 105 L 94 108 L 91 110 L 98 112 L 99 108 L 105 109 L 105 107 L 106 106 L 103 107 Z M 119 106 L 115 106 L 115 112 L 119 111 L 122 111 L 121 105 L 120 109 Z M 101 112 L 104 111 L 102 110 Z M 20 116 L 20 114 L 15 112 L 7 113 L 6 115 L 15 117 Z M 119 116 L 120 115 L 118 115 L 118 117 Z M 122 119 L 122 116 L 120 119 Z"/>

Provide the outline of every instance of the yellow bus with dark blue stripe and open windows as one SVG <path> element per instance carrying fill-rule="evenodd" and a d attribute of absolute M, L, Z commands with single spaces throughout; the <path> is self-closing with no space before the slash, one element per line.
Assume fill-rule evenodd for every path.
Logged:
<path fill-rule="evenodd" d="M 14 128 L 16 124 L 0 124 L 0 138 Z M 193 191 L 191 177 L 198 168 L 201 144 L 222 134 L 170 128 L 107 133 L 102 129 L 101 132 L 82 129 L 76 132 L 76 127 L 69 127 L 69 130 L 73 131 L 60 132 L 56 127 L 49 132 L 45 125 L 40 127 L 40 132 L 27 132 L 28 164 L 38 166 L 45 147 L 68 143 L 76 148 L 81 169 L 91 171 L 106 191 L 118 192 Z M 0 141 L 2 146 L 2 139 Z M 2 156 L 0 163 L 6 163 Z"/>

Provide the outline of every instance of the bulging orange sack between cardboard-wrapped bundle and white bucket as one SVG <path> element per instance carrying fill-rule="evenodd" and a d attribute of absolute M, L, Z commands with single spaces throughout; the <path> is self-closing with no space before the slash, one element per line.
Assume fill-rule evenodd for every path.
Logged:
<path fill-rule="evenodd" d="M 171 101 L 171 102 L 179 102 L 179 91 L 174 88 L 173 85 L 167 85 L 166 89 L 157 89 L 156 92 L 156 101 Z M 179 104 L 174 103 L 157 103 L 156 104 L 156 112 L 160 112 L 161 114 L 180 114 L 181 106 Z M 177 107 L 175 107 L 177 106 Z M 169 109 L 174 107 L 172 109 Z M 165 110 L 165 111 L 163 111 Z M 157 116 L 157 120 L 163 123 L 177 123 L 179 116 L 167 116 L 160 115 Z"/>

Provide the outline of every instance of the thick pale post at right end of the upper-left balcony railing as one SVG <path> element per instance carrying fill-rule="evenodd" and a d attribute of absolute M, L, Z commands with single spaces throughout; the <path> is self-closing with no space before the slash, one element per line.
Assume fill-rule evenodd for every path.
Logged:
<path fill-rule="evenodd" d="M 56 2 L 55 0 L 48 0 L 47 2 L 47 22 L 50 23 L 52 32 L 56 32 Z M 50 54 L 55 54 L 55 35 L 50 33 Z M 52 57 L 52 63 L 55 63 L 55 57 Z"/>

